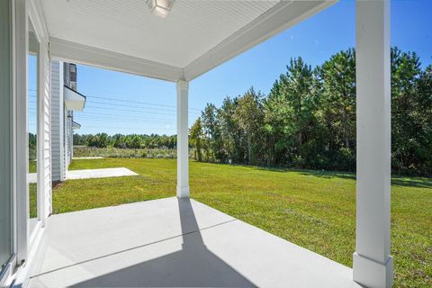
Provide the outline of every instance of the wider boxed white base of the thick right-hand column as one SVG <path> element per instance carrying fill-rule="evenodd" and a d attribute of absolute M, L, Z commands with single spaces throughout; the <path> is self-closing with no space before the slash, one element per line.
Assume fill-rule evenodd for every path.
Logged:
<path fill-rule="evenodd" d="M 353 255 L 353 277 L 356 283 L 366 287 L 390 288 L 393 284 L 393 257 L 388 257 L 385 263 L 380 263 L 355 252 Z"/>

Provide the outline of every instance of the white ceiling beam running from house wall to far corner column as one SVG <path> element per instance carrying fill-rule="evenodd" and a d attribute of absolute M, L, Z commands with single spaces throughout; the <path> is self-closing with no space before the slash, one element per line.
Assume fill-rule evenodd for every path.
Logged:
<path fill-rule="evenodd" d="M 183 68 L 180 67 L 52 37 L 49 38 L 49 57 L 167 81 L 184 78 Z"/>

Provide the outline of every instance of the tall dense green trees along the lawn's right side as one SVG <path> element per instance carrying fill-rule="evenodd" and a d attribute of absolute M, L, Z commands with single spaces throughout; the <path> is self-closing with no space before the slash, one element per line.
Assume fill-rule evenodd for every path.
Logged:
<path fill-rule="evenodd" d="M 392 171 L 432 175 L 432 66 L 392 48 Z M 269 94 L 208 103 L 190 129 L 199 161 L 355 171 L 356 51 L 292 58 Z"/>

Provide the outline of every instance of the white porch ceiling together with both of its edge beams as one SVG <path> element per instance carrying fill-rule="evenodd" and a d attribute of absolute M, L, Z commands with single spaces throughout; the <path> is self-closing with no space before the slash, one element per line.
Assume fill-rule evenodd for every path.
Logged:
<path fill-rule="evenodd" d="M 145 0 L 42 0 L 40 9 L 51 57 L 176 81 L 192 80 L 334 2 L 177 0 L 165 19 L 150 14 Z M 128 68 L 133 62 L 141 67 Z"/>

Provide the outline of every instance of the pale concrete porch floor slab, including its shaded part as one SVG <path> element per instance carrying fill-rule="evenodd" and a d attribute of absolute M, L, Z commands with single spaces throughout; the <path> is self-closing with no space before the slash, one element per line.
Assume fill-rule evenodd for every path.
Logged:
<path fill-rule="evenodd" d="M 360 287 L 352 269 L 193 200 L 49 218 L 30 287 Z"/>

